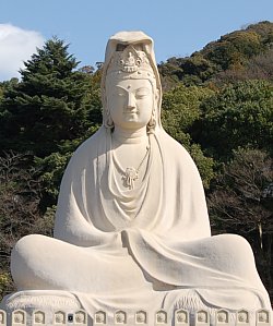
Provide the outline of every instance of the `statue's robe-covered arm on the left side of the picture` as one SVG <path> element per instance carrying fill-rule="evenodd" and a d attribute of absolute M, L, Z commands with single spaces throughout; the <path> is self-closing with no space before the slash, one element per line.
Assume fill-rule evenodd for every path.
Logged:
<path fill-rule="evenodd" d="M 54 237 L 80 246 L 100 245 L 115 237 L 94 226 L 92 209 L 87 207 L 94 204 L 95 197 L 94 184 L 88 184 L 92 190 L 85 189 L 85 178 L 92 178 L 91 167 L 95 166 L 96 148 L 93 144 L 91 138 L 87 140 L 72 156 L 61 181 L 55 218 Z"/>

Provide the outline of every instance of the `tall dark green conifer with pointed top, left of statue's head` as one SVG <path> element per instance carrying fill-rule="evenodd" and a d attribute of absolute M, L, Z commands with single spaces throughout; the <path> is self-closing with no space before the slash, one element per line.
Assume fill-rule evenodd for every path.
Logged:
<path fill-rule="evenodd" d="M 68 45 L 58 38 L 46 41 L 25 62 L 22 82 L 7 87 L 0 106 L 2 149 L 45 157 L 94 124 L 90 116 L 96 89 L 92 75 L 75 71 L 76 65 Z"/>

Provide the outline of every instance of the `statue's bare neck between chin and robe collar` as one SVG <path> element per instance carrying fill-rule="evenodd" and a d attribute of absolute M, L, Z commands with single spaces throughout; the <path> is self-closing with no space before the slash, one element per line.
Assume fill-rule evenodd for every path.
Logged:
<path fill-rule="evenodd" d="M 146 126 L 138 130 L 126 130 L 115 126 L 112 138 L 120 144 L 138 144 L 147 140 Z"/>

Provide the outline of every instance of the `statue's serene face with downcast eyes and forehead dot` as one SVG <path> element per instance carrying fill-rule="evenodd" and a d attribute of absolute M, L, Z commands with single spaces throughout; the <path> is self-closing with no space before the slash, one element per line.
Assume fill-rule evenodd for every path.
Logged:
<path fill-rule="evenodd" d="M 145 126 L 154 105 L 153 87 L 147 80 L 123 80 L 108 83 L 107 104 L 116 126 L 138 130 Z"/>

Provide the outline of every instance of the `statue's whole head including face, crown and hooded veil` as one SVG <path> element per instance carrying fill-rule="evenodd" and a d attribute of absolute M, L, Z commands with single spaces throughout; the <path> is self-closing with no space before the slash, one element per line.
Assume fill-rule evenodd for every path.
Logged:
<path fill-rule="evenodd" d="M 106 48 L 102 77 L 104 125 L 116 123 L 146 125 L 152 133 L 161 126 L 162 87 L 153 50 L 153 40 L 142 32 L 121 32 L 114 35 Z M 115 106 L 127 106 L 127 117 Z M 136 112 L 140 107 L 141 112 Z M 134 111 L 135 110 L 135 111 Z"/>

